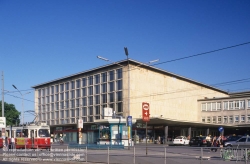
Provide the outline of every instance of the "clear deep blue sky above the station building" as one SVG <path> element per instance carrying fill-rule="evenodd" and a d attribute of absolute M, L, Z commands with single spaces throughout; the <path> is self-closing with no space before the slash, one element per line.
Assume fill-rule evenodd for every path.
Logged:
<path fill-rule="evenodd" d="M 0 0 L 1 90 L 4 82 L 5 102 L 34 111 L 32 86 L 109 64 L 97 56 L 124 60 L 127 47 L 130 59 L 249 91 L 249 42 L 249 0 Z"/>

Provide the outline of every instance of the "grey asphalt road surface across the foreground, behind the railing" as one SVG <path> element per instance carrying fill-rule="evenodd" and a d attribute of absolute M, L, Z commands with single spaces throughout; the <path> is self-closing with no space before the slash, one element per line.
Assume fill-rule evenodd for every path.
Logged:
<path fill-rule="evenodd" d="M 62 151 L 63 150 L 63 151 Z M 4 163 L 4 159 L 13 160 L 13 163 L 79 163 L 77 160 L 87 163 L 112 163 L 112 164 L 224 164 L 224 163 L 246 163 L 245 161 L 223 161 L 220 158 L 220 152 L 211 152 L 210 148 L 206 147 L 189 147 L 189 146 L 166 146 L 149 144 L 136 145 L 135 147 L 120 149 L 120 150 L 76 150 L 72 149 L 67 152 L 67 145 L 53 145 L 52 150 L 26 151 L 15 152 L 18 155 L 13 155 L 0 150 L 0 163 Z M 71 154 L 71 156 L 70 156 Z M 203 157 L 202 160 L 200 157 Z M 62 159 L 56 161 L 55 159 Z M 71 159 L 68 161 L 67 159 Z M 66 161 L 67 160 L 67 161 Z M 82 163 L 81 162 L 81 163 Z M 7 163 L 6 163 L 7 164 Z M 249 162 L 250 164 L 250 162 Z"/>

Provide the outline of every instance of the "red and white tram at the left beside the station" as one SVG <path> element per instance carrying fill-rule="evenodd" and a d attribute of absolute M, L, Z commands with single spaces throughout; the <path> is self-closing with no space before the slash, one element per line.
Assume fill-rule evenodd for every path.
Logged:
<path fill-rule="evenodd" d="M 11 130 L 11 131 L 10 131 Z M 19 127 L 6 127 L 9 143 L 15 139 L 16 149 L 50 149 L 50 127 L 46 123 L 30 123 Z"/>

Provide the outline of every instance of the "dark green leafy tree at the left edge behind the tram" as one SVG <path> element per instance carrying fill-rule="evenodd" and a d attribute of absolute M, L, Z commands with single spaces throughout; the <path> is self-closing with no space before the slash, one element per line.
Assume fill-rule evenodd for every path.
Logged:
<path fill-rule="evenodd" d="M 6 125 L 19 125 L 19 115 L 21 112 L 16 110 L 14 104 L 4 102 L 4 117 L 6 117 Z M 2 101 L 0 101 L 0 115 L 2 115 Z"/>

